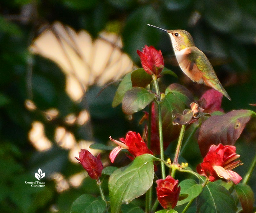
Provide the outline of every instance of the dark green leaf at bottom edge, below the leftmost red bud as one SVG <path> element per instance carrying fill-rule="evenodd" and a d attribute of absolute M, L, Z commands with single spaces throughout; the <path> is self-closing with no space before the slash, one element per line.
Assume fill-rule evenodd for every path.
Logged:
<path fill-rule="evenodd" d="M 83 194 L 78 197 L 71 207 L 71 213 L 103 213 L 105 210 L 106 203 L 90 194 Z"/>

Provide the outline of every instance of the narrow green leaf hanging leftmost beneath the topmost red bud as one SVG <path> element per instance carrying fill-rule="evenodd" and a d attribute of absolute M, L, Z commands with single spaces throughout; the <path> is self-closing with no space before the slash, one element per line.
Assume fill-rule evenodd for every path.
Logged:
<path fill-rule="evenodd" d="M 122 103 L 124 94 L 132 88 L 132 81 L 131 81 L 131 72 L 127 73 L 121 83 L 119 84 L 116 94 L 113 99 L 112 107 L 118 106 Z"/>

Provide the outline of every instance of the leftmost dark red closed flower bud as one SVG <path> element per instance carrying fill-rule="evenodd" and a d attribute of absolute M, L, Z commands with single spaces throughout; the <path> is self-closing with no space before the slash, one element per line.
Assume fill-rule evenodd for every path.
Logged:
<path fill-rule="evenodd" d="M 75 158 L 79 161 L 78 163 L 84 167 L 92 179 L 98 179 L 101 176 L 103 165 L 100 161 L 100 154 L 98 154 L 96 158 L 87 149 L 81 149 L 79 158 Z"/>

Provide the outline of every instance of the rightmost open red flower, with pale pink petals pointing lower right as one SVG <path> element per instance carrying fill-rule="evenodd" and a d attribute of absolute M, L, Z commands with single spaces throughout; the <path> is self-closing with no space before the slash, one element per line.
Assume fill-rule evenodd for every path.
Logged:
<path fill-rule="evenodd" d="M 235 146 L 213 144 L 204 157 L 203 163 L 199 164 L 196 170 L 212 182 L 224 178 L 238 184 L 242 178 L 232 171 L 236 166 L 241 165 L 240 160 L 235 161 L 238 157 L 240 155 L 236 154 Z"/>

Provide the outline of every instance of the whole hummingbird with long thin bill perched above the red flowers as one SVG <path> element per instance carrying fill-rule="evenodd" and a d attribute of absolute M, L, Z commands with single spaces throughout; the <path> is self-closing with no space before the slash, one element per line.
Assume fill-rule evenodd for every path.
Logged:
<path fill-rule="evenodd" d="M 148 24 L 148 26 L 156 27 L 150 24 Z M 221 85 L 210 61 L 204 53 L 195 46 L 192 36 L 186 30 L 165 30 L 160 27 L 156 28 L 164 30 L 169 34 L 180 69 L 192 81 L 212 87 L 231 100 L 228 93 Z"/>

